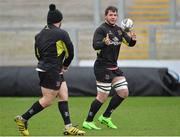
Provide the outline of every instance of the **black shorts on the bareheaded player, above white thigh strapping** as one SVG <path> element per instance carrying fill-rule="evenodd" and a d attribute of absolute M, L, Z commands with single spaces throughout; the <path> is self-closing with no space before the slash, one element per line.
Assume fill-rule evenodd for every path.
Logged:
<path fill-rule="evenodd" d="M 109 70 L 107 68 L 94 67 L 94 74 L 96 80 L 103 83 L 111 83 L 113 78 L 124 76 L 123 72 L 119 68 L 116 70 Z"/>

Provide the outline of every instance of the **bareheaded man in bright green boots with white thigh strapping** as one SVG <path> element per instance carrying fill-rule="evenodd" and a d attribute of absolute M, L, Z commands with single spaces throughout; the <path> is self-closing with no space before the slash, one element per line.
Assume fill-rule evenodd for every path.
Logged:
<path fill-rule="evenodd" d="M 112 129 L 117 129 L 110 116 L 112 112 L 128 97 L 128 83 L 121 69 L 117 65 L 117 59 L 121 43 L 132 47 L 136 44 L 136 35 L 133 32 L 126 33 L 116 25 L 118 10 L 109 6 L 105 10 L 105 22 L 95 31 L 93 48 L 97 51 L 97 59 L 94 63 L 94 74 L 97 84 L 97 96 L 91 103 L 88 116 L 83 122 L 86 129 L 100 130 L 93 122 L 94 116 L 108 98 L 111 88 L 116 91 L 112 96 L 105 112 L 98 118 L 102 124 Z"/>

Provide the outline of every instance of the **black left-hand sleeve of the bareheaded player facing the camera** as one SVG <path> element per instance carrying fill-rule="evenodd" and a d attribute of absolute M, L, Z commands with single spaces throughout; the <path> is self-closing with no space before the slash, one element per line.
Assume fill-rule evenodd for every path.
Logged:
<path fill-rule="evenodd" d="M 95 50 L 100 50 L 104 47 L 104 38 L 106 34 L 104 33 L 102 28 L 97 28 L 93 37 L 93 48 Z"/>

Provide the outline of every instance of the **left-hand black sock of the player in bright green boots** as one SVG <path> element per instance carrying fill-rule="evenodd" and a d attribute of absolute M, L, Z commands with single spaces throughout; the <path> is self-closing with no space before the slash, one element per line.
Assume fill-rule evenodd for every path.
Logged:
<path fill-rule="evenodd" d="M 96 113 L 98 112 L 98 110 L 100 109 L 101 106 L 102 106 L 102 103 L 100 101 L 98 101 L 97 99 L 95 99 L 91 103 L 91 107 L 90 107 L 90 110 L 88 113 L 88 117 L 86 118 L 86 121 L 92 122 L 94 119 L 94 116 L 96 115 Z"/>

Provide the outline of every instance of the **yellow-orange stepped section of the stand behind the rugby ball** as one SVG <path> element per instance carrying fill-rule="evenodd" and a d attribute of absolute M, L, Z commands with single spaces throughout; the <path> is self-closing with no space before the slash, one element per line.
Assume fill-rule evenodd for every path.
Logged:
<path fill-rule="evenodd" d="M 123 46 L 121 59 L 149 58 L 149 25 L 170 23 L 169 2 L 169 0 L 133 0 L 126 8 L 125 16 L 135 21 L 134 30 L 138 41 L 136 47 Z"/>

